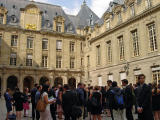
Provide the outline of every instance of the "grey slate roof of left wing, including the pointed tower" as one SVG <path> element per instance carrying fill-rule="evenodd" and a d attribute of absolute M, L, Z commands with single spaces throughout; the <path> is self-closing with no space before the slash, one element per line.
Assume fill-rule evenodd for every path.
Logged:
<path fill-rule="evenodd" d="M 25 8 L 29 4 L 35 4 L 42 14 L 42 29 L 52 30 L 53 18 L 57 15 L 65 18 L 65 32 L 68 32 L 69 28 L 72 28 L 72 33 L 76 33 L 76 28 L 84 28 L 89 26 L 89 20 L 92 16 L 93 24 L 99 20 L 98 16 L 83 3 L 79 13 L 76 16 L 67 15 L 61 6 L 34 2 L 29 0 L 0 0 L 0 5 L 4 6 L 7 10 L 7 24 L 19 26 L 20 9 Z M 12 18 L 15 18 L 14 22 Z M 47 26 L 46 26 L 47 24 Z M 71 32 L 71 31 L 70 31 Z"/>

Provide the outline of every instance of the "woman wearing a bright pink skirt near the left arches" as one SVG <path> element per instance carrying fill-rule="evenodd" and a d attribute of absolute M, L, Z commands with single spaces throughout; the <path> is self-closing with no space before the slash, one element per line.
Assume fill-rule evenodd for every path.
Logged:
<path fill-rule="evenodd" d="M 29 96 L 28 96 L 28 92 L 29 92 L 29 89 L 28 88 L 25 88 L 24 90 L 24 103 L 23 103 L 23 109 L 24 109 L 24 117 L 27 117 L 27 110 L 29 110 Z"/>

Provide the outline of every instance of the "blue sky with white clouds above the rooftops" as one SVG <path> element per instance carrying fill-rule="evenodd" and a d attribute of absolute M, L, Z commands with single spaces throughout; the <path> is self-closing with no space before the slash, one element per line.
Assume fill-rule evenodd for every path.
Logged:
<path fill-rule="evenodd" d="M 84 0 L 34 0 L 38 2 L 45 2 L 63 7 L 66 13 L 76 15 Z M 103 13 L 109 6 L 112 0 L 86 0 L 87 5 L 99 16 L 102 17 Z"/>

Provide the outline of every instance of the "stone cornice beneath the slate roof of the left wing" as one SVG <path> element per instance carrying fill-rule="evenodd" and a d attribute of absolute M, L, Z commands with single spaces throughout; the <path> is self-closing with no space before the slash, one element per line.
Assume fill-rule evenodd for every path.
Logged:
<path fill-rule="evenodd" d="M 66 37 L 66 38 L 75 38 L 75 39 L 81 39 L 85 40 L 85 36 L 78 35 L 78 34 L 69 34 L 69 33 L 59 33 L 56 31 L 47 31 L 47 30 L 40 30 L 40 31 L 34 31 L 34 30 L 26 30 L 21 28 L 20 26 L 12 26 L 12 25 L 0 25 L 0 31 L 20 31 L 20 32 L 32 32 L 34 34 L 43 34 L 43 35 L 51 35 L 51 36 L 60 36 L 60 37 Z"/>

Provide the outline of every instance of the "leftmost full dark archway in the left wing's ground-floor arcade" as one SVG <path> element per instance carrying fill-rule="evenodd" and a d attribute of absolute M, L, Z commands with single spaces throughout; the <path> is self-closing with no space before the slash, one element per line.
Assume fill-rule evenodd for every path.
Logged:
<path fill-rule="evenodd" d="M 7 79 L 7 88 L 14 90 L 17 87 L 18 79 L 16 76 L 12 75 Z"/>

